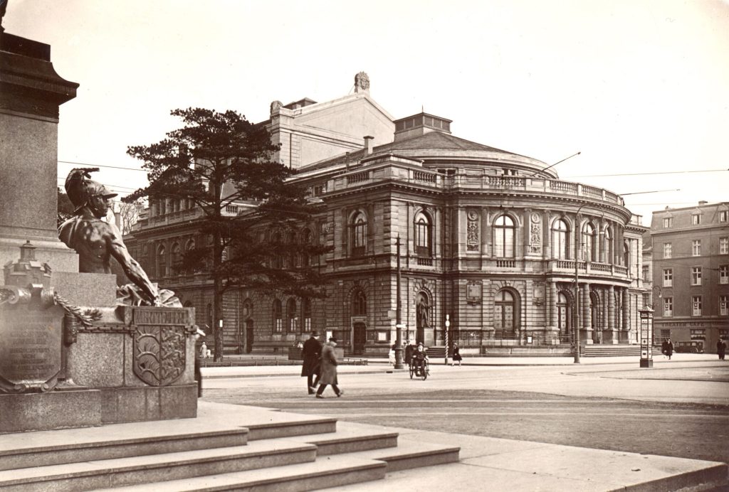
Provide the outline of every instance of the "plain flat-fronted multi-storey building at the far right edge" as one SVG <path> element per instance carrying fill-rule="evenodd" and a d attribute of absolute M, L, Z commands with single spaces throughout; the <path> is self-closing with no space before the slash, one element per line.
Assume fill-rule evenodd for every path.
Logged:
<path fill-rule="evenodd" d="M 729 202 L 653 213 L 655 338 L 714 352 L 729 337 Z"/>

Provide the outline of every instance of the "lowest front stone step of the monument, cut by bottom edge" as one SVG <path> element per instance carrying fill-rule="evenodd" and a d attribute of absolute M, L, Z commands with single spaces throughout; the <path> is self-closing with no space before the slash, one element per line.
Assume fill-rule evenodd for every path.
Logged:
<path fill-rule="evenodd" d="M 354 483 L 381 480 L 387 464 L 383 461 L 360 459 L 348 454 L 321 456 L 311 463 L 291 464 L 270 469 L 254 469 L 170 480 L 122 488 L 104 489 L 106 492 L 153 491 L 256 491 L 299 492 L 321 488 L 341 487 Z"/>

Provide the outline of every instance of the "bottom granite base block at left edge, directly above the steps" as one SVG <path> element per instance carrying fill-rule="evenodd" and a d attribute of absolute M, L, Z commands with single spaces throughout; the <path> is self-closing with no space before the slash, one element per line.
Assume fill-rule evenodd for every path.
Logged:
<path fill-rule="evenodd" d="M 101 400 L 93 389 L 0 394 L 0 433 L 99 426 Z"/>

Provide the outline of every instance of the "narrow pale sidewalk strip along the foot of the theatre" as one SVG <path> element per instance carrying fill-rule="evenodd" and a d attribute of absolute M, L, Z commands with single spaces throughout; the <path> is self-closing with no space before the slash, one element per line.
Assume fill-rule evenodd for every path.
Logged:
<path fill-rule="evenodd" d="M 241 359 L 243 357 L 255 360 L 252 356 L 228 356 L 227 359 Z M 275 359 L 268 356 L 267 359 Z M 388 373 L 394 371 L 393 366 L 387 359 L 370 358 L 366 365 L 340 365 L 340 374 L 373 374 Z M 206 368 L 203 367 L 204 378 L 254 378 L 267 376 L 299 376 L 301 373 L 301 362 L 289 361 L 281 357 L 282 365 L 233 365 L 226 367 Z M 233 362 L 233 361 L 231 361 Z M 292 363 L 293 362 L 293 363 Z M 449 362 L 452 362 L 449 359 Z M 570 366 L 579 368 L 585 365 L 620 365 L 639 367 L 639 357 L 581 357 L 580 363 L 575 364 L 573 357 L 464 357 L 461 365 L 470 366 Z M 653 359 L 654 368 L 668 368 L 671 365 L 681 367 L 683 363 L 694 362 L 718 362 L 716 354 L 678 354 L 669 361 L 663 356 Z M 284 365 L 286 364 L 286 365 Z M 444 358 L 431 359 L 431 365 L 445 365 Z M 729 362 L 727 362 L 729 366 Z M 405 369 L 407 370 L 407 366 Z"/>

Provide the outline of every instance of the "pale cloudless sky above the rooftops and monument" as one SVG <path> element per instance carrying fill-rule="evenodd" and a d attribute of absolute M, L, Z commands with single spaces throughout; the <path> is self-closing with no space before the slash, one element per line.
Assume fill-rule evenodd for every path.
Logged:
<path fill-rule="evenodd" d="M 273 100 L 339 98 L 365 71 L 395 119 L 424 110 L 547 164 L 579 151 L 560 178 L 624 194 L 644 225 L 729 200 L 726 0 L 9 0 L 3 26 L 80 84 L 59 183 L 68 162 L 110 166 L 95 178 L 127 194 L 147 183 L 127 147 L 179 127 L 172 109 L 260 122 Z"/>

